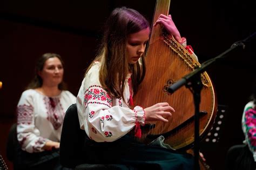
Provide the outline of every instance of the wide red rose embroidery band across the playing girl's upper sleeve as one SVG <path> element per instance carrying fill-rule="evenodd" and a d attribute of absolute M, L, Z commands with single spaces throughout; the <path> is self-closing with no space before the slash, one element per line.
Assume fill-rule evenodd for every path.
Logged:
<path fill-rule="evenodd" d="M 88 104 L 103 104 L 112 107 L 112 98 L 109 93 L 102 88 L 102 86 L 90 86 L 84 93 L 85 107 Z"/>

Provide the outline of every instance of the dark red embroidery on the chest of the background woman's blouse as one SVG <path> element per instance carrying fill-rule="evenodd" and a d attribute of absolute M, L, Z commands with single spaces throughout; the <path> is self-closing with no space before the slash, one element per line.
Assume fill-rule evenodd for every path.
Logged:
<path fill-rule="evenodd" d="M 44 97 L 44 104 L 47 110 L 47 120 L 49 120 L 55 130 L 62 126 L 64 119 L 64 110 L 60 104 L 59 98 Z"/>

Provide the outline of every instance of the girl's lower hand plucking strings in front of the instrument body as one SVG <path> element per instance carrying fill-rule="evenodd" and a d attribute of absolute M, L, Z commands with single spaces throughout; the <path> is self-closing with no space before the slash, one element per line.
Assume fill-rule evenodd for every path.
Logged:
<path fill-rule="evenodd" d="M 145 121 L 163 121 L 168 122 L 168 117 L 172 115 L 171 112 L 175 110 L 169 105 L 169 103 L 157 103 L 153 106 L 144 108 L 146 120 Z"/>

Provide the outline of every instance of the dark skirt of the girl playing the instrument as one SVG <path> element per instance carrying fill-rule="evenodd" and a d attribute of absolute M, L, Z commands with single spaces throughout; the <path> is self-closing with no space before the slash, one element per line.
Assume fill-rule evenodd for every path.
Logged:
<path fill-rule="evenodd" d="M 86 137 L 83 151 L 88 164 L 125 165 L 126 169 L 194 168 L 191 154 L 141 144 L 128 134 L 113 142 L 95 142 Z"/>

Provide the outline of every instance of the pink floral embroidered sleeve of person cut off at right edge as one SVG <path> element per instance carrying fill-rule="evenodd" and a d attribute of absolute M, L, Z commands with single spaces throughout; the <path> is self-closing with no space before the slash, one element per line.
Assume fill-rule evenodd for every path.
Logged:
<path fill-rule="evenodd" d="M 255 107 L 247 107 L 244 111 L 244 133 L 246 142 L 251 151 L 256 151 L 256 110 Z"/>

